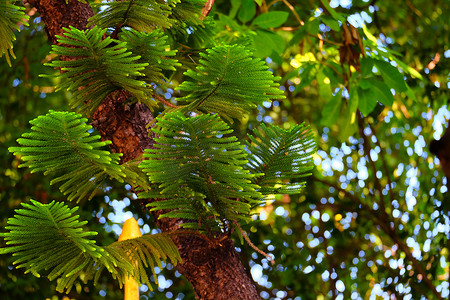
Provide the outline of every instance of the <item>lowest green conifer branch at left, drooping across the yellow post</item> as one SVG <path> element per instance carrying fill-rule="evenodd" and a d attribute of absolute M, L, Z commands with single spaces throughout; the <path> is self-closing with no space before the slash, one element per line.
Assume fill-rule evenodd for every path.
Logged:
<path fill-rule="evenodd" d="M 34 200 L 22 206 L 8 219 L 8 232 L 0 233 L 7 245 L 0 254 L 13 253 L 13 264 L 25 268 L 25 273 L 37 277 L 45 273 L 49 280 L 59 279 L 60 292 L 69 292 L 78 278 L 96 282 L 105 269 L 120 285 L 126 275 L 131 275 L 151 288 L 145 268 L 151 267 L 156 278 L 154 266 L 161 266 L 161 260 L 170 259 L 173 264 L 181 261 L 176 246 L 164 233 L 100 247 L 90 239 L 96 232 L 83 231 L 87 222 L 79 221 L 74 214 L 78 207 Z"/>

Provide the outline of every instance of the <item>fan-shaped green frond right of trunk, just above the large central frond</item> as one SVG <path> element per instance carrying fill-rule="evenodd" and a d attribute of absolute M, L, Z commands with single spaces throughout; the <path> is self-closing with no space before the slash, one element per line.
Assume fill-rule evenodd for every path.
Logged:
<path fill-rule="evenodd" d="M 284 98 L 266 63 L 245 48 L 218 46 L 200 55 L 200 66 L 185 72 L 191 79 L 178 87 L 187 93 L 178 99 L 185 109 L 240 118 L 264 101 Z"/>

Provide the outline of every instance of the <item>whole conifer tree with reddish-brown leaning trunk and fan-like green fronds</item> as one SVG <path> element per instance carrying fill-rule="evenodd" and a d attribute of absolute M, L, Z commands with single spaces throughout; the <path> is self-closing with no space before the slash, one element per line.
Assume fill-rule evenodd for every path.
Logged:
<path fill-rule="evenodd" d="M 32 201 L 8 220 L 0 253 L 57 280 L 59 291 L 102 272 L 150 284 L 147 270 L 170 261 L 199 299 L 258 299 L 230 237 L 248 240 L 241 226 L 255 208 L 301 191 L 315 144 L 304 124 L 261 125 L 246 140 L 231 124 L 283 99 L 279 78 L 251 49 L 213 39 L 201 0 L 125 0 L 93 10 L 83 1 L 29 2 L 46 21 L 56 56 L 48 66 L 61 71 L 57 89 L 71 92 L 73 112 L 36 117 L 10 151 L 67 200 L 91 199 L 110 180 L 130 184 L 163 233 L 100 246 L 76 208 Z M 10 62 L 12 30 L 25 15 L 1 7 L 0 53 Z M 186 40 L 196 48 L 175 47 Z M 159 95 L 168 87 L 176 102 Z"/>

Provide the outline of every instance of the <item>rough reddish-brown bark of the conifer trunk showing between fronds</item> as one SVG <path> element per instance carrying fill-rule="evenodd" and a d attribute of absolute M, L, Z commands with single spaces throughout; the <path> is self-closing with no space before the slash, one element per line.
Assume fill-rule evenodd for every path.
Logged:
<path fill-rule="evenodd" d="M 52 43 L 56 43 L 56 35 L 63 33 L 63 27 L 85 29 L 87 19 L 93 15 L 89 5 L 76 0 L 68 4 L 64 0 L 28 2 L 41 14 Z M 141 104 L 124 104 L 128 98 L 127 92 L 113 93 L 92 115 L 92 124 L 102 139 L 112 141 L 112 151 L 123 153 L 122 162 L 137 158 L 153 145 L 146 127 L 153 119 L 150 110 Z M 154 216 L 157 219 L 158 214 Z M 163 231 L 173 231 L 180 222 L 163 218 L 157 224 Z M 175 235 L 174 242 L 183 259 L 178 271 L 192 284 L 198 299 L 260 299 L 228 237 L 208 240 L 195 235 Z"/>

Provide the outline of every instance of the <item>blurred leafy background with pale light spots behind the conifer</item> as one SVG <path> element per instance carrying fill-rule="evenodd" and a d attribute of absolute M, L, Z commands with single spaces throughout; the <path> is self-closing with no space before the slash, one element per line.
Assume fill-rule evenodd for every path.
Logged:
<path fill-rule="evenodd" d="M 55 79 L 39 77 L 54 72 L 44 66 L 52 58 L 51 46 L 38 12 L 26 8 L 30 26 L 16 34 L 17 58 L 12 67 L 0 58 L 2 230 L 22 202 L 65 201 L 57 186 L 18 168 L 18 158 L 8 152 L 31 119 L 49 109 L 69 110 L 70 95 L 54 90 Z M 255 22 L 269 11 L 284 12 L 279 17 L 286 20 L 273 26 Z M 236 121 L 236 135 L 245 138 L 260 122 L 283 128 L 306 122 L 316 135 L 315 169 L 304 193 L 268 202 L 245 228 L 276 264 L 236 239 L 262 299 L 449 297 L 447 179 L 428 149 L 450 118 L 449 11 L 445 0 L 216 0 L 206 28 L 210 38 L 195 38 L 199 30 L 185 34 L 181 43 L 198 51 L 213 41 L 245 44 L 280 76 L 286 100 L 264 103 Z M 348 49 L 346 30 L 359 34 Z M 173 47 L 179 47 L 177 34 L 171 34 Z M 196 60 L 194 50 L 179 60 Z M 368 58 L 384 60 L 398 72 L 384 72 Z M 173 102 L 182 71 L 169 74 L 173 87 L 158 90 Z M 376 85 L 368 86 L 375 81 L 392 93 L 390 105 L 370 98 L 380 93 Z M 355 94 L 357 112 L 351 108 Z M 97 242 L 108 245 L 131 216 L 143 233 L 158 232 L 135 200 L 130 186 L 111 183 L 91 201 L 68 204 L 80 206 L 87 229 L 99 232 Z M 194 299 L 173 266 L 158 271 L 153 290 L 141 287 L 142 299 Z M 58 294 L 55 283 L 13 268 L 6 255 L 0 256 L 0 295 L 5 300 L 123 298 L 106 274 L 95 287 L 78 284 L 69 295 Z"/>

